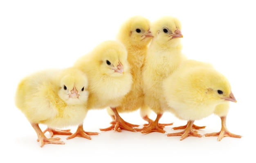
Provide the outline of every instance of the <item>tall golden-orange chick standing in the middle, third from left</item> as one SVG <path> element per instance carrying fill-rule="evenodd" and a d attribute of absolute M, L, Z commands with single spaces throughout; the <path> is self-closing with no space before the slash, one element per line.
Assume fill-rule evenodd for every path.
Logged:
<path fill-rule="evenodd" d="M 141 116 L 148 121 L 150 109 L 144 104 L 144 93 L 142 86 L 141 69 L 144 65 L 148 44 L 152 39 L 150 32 L 150 21 L 143 16 L 133 16 L 121 25 L 117 39 L 120 40 L 128 51 L 128 63 L 131 67 L 132 87 L 131 90 L 123 98 L 121 105 L 118 107 L 108 107 L 108 114 L 112 117 L 112 126 L 101 131 L 121 129 L 135 131 L 132 125 L 124 121 L 118 113 L 132 112 L 141 108 Z M 115 118 L 115 115 L 118 118 Z"/>

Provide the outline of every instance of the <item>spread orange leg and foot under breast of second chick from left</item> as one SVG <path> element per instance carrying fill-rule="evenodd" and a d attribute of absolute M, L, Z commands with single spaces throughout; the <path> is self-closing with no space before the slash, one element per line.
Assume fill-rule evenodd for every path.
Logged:
<path fill-rule="evenodd" d="M 119 116 L 117 109 L 115 107 L 113 108 L 111 107 L 111 109 L 114 112 L 115 120 L 110 123 L 112 124 L 110 127 L 105 129 L 100 129 L 101 131 L 114 130 L 114 131 L 121 132 L 121 129 L 124 129 L 127 131 L 137 132 L 133 127 L 138 127 L 139 125 L 133 125 L 131 123 L 124 121 L 124 119 L 122 119 L 121 116 Z"/>

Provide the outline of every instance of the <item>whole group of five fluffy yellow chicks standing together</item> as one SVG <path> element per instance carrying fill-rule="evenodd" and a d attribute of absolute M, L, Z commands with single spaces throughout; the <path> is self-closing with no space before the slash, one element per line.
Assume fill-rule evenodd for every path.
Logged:
<path fill-rule="evenodd" d="M 65 144 L 67 139 L 98 132 L 85 132 L 83 121 L 90 109 L 107 109 L 111 126 L 101 131 L 161 132 L 169 124 L 159 123 L 164 112 L 171 112 L 187 124 L 174 127 L 182 132 L 167 136 L 202 137 L 194 125 L 211 114 L 220 116 L 220 132 L 204 136 L 241 138 L 227 130 L 229 101 L 236 102 L 225 76 L 210 63 L 186 58 L 182 54 L 181 22 L 163 16 L 151 23 L 142 16 L 129 18 L 120 27 L 116 40 L 106 40 L 77 59 L 66 69 L 46 69 L 26 76 L 16 90 L 15 103 L 36 131 L 40 147 Z M 140 109 L 148 123 L 143 128 L 124 121 L 119 113 Z M 149 118 L 153 110 L 154 120 Z M 47 125 L 42 131 L 38 124 Z M 60 128 L 78 126 L 75 133 Z M 50 133 L 50 138 L 45 136 Z"/>

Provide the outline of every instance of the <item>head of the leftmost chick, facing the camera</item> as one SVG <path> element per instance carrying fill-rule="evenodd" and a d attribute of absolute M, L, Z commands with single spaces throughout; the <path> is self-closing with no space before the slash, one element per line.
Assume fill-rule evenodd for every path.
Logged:
<path fill-rule="evenodd" d="M 88 78 L 74 67 L 64 69 L 57 76 L 58 95 L 67 104 L 85 104 L 88 100 Z"/>

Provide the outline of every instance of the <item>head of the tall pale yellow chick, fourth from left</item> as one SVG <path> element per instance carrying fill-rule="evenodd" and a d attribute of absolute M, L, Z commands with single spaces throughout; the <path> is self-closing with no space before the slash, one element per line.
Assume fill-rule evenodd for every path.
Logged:
<path fill-rule="evenodd" d="M 161 46 L 176 47 L 180 45 L 181 22 L 179 19 L 172 16 L 164 16 L 155 21 L 151 26 L 151 32 L 154 40 Z"/>

